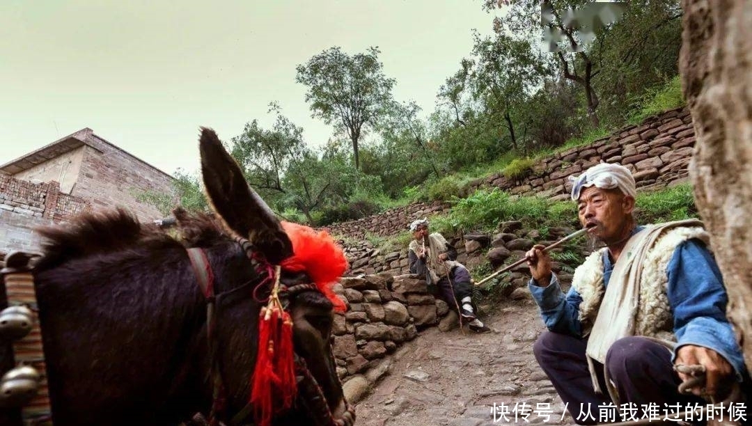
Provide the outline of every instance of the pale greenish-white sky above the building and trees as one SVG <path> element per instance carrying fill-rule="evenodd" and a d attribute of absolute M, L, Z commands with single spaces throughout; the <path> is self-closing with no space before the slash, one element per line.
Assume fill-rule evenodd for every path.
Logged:
<path fill-rule="evenodd" d="M 89 127 L 162 171 L 198 171 L 199 125 L 223 140 L 268 128 L 271 101 L 323 144 L 332 128 L 295 68 L 335 45 L 378 46 L 395 98 L 428 114 L 492 21 L 480 0 L 2 0 L 0 164 Z"/>

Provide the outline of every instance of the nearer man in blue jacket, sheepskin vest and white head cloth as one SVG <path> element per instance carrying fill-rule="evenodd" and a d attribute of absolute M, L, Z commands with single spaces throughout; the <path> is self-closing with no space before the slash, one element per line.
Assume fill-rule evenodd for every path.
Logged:
<path fill-rule="evenodd" d="M 529 290 L 549 330 L 535 358 L 578 424 L 612 420 L 599 418 L 611 403 L 636 408 L 636 418 L 656 404 L 663 418 L 666 409 L 705 405 L 701 394 L 718 402 L 746 374 L 702 222 L 637 225 L 635 195 L 621 165 L 595 165 L 574 180 L 580 222 L 603 245 L 575 270 L 566 295 L 543 246 L 526 254 Z M 705 384 L 680 394 L 694 365 Z"/>

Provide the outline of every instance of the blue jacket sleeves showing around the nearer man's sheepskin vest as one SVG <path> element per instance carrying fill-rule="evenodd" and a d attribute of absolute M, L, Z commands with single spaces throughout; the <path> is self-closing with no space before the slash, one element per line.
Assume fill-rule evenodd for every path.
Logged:
<path fill-rule="evenodd" d="M 608 252 L 604 253 L 603 265 L 603 281 L 608 286 L 614 270 Z M 678 340 L 676 348 L 691 344 L 713 349 L 729 361 L 741 379 L 741 372 L 745 370 L 744 357 L 726 319 L 728 296 L 723 277 L 705 244 L 699 240 L 681 243 L 675 249 L 666 273 L 669 278 L 667 295 Z M 539 287 L 535 279 L 530 279 L 528 288 L 550 331 L 582 337 L 578 319 L 582 298 L 575 289 L 569 289 L 564 295 L 556 274 L 552 274 L 549 286 Z M 675 358 L 676 352 L 672 359 Z"/>

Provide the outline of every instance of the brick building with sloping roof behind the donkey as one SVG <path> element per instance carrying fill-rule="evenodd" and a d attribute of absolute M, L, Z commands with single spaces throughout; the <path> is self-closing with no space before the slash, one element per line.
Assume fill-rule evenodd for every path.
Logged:
<path fill-rule="evenodd" d="M 172 192 L 173 177 L 94 134 L 62 137 L 0 165 L 0 252 L 35 249 L 38 225 L 90 208 L 125 207 L 143 222 L 162 218 L 144 192 Z"/>

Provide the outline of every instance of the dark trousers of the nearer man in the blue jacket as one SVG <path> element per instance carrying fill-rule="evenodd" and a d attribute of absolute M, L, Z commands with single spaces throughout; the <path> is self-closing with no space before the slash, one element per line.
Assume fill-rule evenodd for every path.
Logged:
<path fill-rule="evenodd" d="M 596 394 L 593 390 L 585 358 L 586 346 L 585 339 L 544 331 L 535 342 L 533 352 L 577 424 L 620 421 L 619 409 L 615 410 L 613 420 L 599 414 L 599 406 L 612 402 L 602 375 L 603 365 L 597 361 L 596 372 L 604 394 Z M 608 376 L 617 389 L 619 403 L 637 408 L 634 418 L 643 417 L 642 408 L 649 403 L 659 407 L 661 418 L 666 413 L 665 404 L 676 406 L 678 403 L 680 410 L 684 411 L 690 403 L 690 408 L 694 403 L 703 406 L 708 403 L 700 397 L 678 393 L 681 379 L 673 370 L 671 355 L 666 347 L 644 337 L 624 337 L 608 350 L 605 361 Z M 623 420 L 632 419 L 627 416 Z"/>

